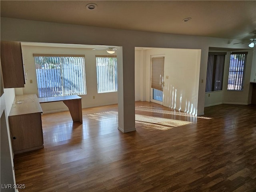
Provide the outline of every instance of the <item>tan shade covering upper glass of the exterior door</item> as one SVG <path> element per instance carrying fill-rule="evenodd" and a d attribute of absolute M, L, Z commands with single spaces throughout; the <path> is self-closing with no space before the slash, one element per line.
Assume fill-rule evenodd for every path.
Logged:
<path fill-rule="evenodd" d="M 152 58 L 151 88 L 163 90 L 164 82 L 164 57 Z"/>

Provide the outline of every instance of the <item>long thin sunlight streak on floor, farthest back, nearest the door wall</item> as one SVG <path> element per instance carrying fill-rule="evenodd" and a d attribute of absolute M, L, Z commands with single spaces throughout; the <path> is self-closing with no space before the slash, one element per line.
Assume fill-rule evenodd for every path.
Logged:
<path fill-rule="evenodd" d="M 201 118 L 201 119 L 212 119 L 210 117 L 202 117 L 202 116 L 194 116 L 192 114 L 187 114 L 185 112 L 179 112 L 179 111 L 168 111 L 168 110 L 162 110 L 159 108 L 154 107 L 146 107 L 146 106 L 138 106 L 135 107 L 135 110 L 138 111 L 148 111 L 148 112 L 155 112 L 155 113 L 163 113 L 163 114 L 170 114 L 170 115 L 179 115 L 179 116 L 186 116 L 186 117 L 193 117 L 193 118 Z"/>

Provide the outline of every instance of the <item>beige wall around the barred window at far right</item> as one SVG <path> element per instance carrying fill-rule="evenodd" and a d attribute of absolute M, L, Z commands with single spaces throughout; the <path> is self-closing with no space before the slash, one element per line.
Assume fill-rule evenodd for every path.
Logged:
<path fill-rule="evenodd" d="M 253 60 L 252 49 L 247 50 L 210 50 L 211 52 L 226 52 L 224 75 L 223 75 L 223 87 L 220 91 L 205 93 L 205 106 L 214 106 L 218 104 L 250 104 L 251 103 L 251 68 Z M 244 71 L 244 89 L 242 91 L 227 90 L 228 87 L 228 70 L 230 64 L 230 54 L 232 52 L 248 52 L 246 66 Z M 209 97 L 210 94 L 210 97 Z"/>

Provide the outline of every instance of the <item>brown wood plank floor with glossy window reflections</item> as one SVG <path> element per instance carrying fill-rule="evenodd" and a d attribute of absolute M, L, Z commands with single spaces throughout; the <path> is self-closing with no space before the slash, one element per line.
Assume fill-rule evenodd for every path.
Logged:
<path fill-rule="evenodd" d="M 256 192 L 256 105 L 195 117 L 136 102 L 136 131 L 117 105 L 44 114 L 44 149 L 15 155 L 19 192 Z"/>

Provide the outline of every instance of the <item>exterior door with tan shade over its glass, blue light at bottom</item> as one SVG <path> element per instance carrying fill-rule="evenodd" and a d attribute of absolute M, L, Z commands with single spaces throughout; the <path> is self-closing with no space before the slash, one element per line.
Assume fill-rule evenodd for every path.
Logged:
<path fill-rule="evenodd" d="M 163 104 L 164 57 L 151 58 L 151 102 Z"/>

